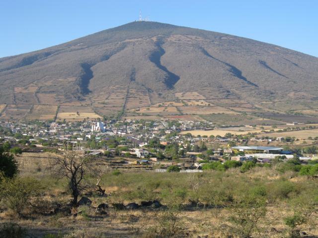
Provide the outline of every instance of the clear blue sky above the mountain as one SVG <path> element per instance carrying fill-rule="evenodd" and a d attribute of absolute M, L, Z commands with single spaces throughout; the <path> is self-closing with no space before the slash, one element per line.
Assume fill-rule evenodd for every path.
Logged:
<path fill-rule="evenodd" d="M 139 17 L 233 34 L 318 57 L 318 0 L 0 0 L 0 57 Z"/>

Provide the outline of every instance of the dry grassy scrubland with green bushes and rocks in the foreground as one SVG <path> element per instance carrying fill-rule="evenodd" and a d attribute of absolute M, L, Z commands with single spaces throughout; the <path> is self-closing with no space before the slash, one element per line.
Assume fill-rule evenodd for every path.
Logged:
<path fill-rule="evenodd" d="M 99 183 L 105 195 L 96 191 L 96 179 L 87 177 L 87 189 L 81 196 L 91 203 L 82 201 L 73 208 L 68 206 L 71 193 L 67 179 L 57 180 L 49 170 L 39 167 L 28 168 L 13 184 L 8 183 L 14 194 L 1 199 L 1 235 L 318 236 L 317 180 L 297 172 L 279 172 L 276 167 L 256 167 L 246 173 L 239 169 L 199 174 L 109 171 Z M 125 207 L 132 202 L 138 205 Z M 107 205 L 98 206 L 103 203 Z"/>

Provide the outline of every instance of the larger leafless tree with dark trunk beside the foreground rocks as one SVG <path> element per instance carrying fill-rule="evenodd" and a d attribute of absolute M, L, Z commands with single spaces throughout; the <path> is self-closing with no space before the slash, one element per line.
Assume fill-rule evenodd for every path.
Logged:
<path fill-rule="evenodd" d="M 81 192 L 90 187 L 84 178 L 93 173 L 95 162 L 94 157 L 81 155 L 78 151 L 66 150 L 64 156 L 58 158 L 53 165 L 53 174 L 58 179 L 67 178 L 69 180 L 73 206 L 78 204 Z"/>

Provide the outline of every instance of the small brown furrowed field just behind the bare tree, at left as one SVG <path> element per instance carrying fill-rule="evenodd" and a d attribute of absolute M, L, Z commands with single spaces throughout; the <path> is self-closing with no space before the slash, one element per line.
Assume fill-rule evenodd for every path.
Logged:
<path fill-rule="evenodd" d="M 18 162 L 20 170 L 39 167 L 45 169 L 54 164 L 58 155 L 45 152 L 23 152 L 21 155 L 14 156 Z"/>

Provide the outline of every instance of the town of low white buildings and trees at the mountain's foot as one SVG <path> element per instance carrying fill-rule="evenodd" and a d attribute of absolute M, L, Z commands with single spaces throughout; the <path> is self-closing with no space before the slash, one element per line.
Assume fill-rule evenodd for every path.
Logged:
<path fill-rule="evenodd" d="M 180 172 L 202 172 L 211 169 L 213 162 L 254 162 L 257 166 L 297 160 L 308 164 L 318 159 L 318 137 L 296 143 L 295 137 L 271 137 L 275 131 L 315 129 L 316 124 L 287 123 L 283 130 L 264 126 L 261 134 L 239 127 L 217 128 L 213 122 L 182 120 L 84 120 L 59 122 L 1 122 L 1 144 L 19 147 L 20 165 L 32 165 L 26 160 L 49 166 L 54 163 L 52 153 L 61 154 L 72 148 L 81 154 L 104 158 L 110 170 L 166 172 L 175 168 Z M 295 126 L 295 127 L 290 127 Z M 254 126 L 255 129 L 255 126 Z M 275 130 L 276 129 L 276 130 Z M 221 135 L 193 135 L 190 132 L 221 132 Z M 225 133 L 226 132 L 226 133 Z M 51 160 L 47 160 L 47 153 Z M 36 154 L 35 154 L 36 153 Z M 36 155 L 35 159 L 31 155 Z M 42 159 L 41 159 L 42 158 Z M 212 167 L 211 167 L 212 166 Z"/>

